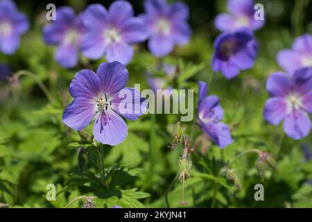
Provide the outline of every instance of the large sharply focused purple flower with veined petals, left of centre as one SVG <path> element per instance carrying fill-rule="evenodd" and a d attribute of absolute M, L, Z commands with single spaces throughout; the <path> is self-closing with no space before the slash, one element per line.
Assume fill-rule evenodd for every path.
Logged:
<path fill-rule="evenodd" d="M 64 111 L 63 122 L 83 130 L 95 117 L 94 138 L 102 144 L 120 144 L 128 128 L 119 115 L 135 120 L 146 109 L 137 89 L 123 89 L 127 81 L 128 70 L 119 62 L 103 62 L 96 74 L 89 69 L 79 71 L 69 87 L 73 102 Z"/>

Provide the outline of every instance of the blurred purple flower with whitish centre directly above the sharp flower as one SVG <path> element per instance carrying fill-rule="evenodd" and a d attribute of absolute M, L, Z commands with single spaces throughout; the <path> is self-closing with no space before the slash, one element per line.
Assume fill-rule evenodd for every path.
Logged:
<path fill-rule="evenodd" d="M 90 5 L 83 14 L 88 30 L 83 38 L 83 54 L 98 59 L 104 55 L 108 62 L 127 65 L 134 51 L 131 44 L 144 42 L 147 37 L 142 19 L 133 17 L 128 1 L 114 1 L 107 10 L 101 4 Z"/>

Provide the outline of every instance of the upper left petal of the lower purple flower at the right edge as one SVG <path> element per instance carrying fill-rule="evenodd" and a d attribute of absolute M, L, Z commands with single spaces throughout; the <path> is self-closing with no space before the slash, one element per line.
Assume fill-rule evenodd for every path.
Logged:
<path fill-rule="evenodd" d="M 266 81 L 266 89 L 271 96 L 287 96 L 291 90 L 288 75 L 283 72 L 275 72 Z"/>

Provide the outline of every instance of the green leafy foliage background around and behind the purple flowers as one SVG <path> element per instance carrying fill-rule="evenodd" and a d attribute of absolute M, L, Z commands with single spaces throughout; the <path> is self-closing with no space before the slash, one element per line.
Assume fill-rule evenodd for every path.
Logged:
<path fill-rule="evenodd" d="M 193 168 L 185 189 L 189 205 L 185 207 L 312 207 L 312 186 L 307 184 L 312 178 L 312 161 L 304 162 L 302 153 L 303 144 L 312 150 L 311 135 L 296 142 L 284 137 L 281 126 L 270 126 L 262 117 L 263 105 L 268 99 L 266 79 L 273 71 L 280 70 L 275 61 L 277 52 L 290 48 L 298 35 L 312 32 L 311 2 L 306 1 L 306 6 L 302 6 L 301 0 L 261 1 L 268 17 L 266 26 L 256 33 L 261 46 L 256 65 L 234 80 L 214 74 L 210 67 L 212 44 L 218 34 L 213 19 L 216 13 L 225 11 L 226 2 L 208 1 L 207 6 L 201 5 L 202 1 L 186 2 L 191 13 L 206 7 L 209 16 L 201 19 L 191 15 L 191 42 L 176 47 L 164 58 L 180 69 L 177 81 L 168 84 L 197 92 L 198 80 L 209 83 L 209 94 L 220 97 L 225 123 L 231 127 L 235 142 L 220 150 L 208 139 L 202 139 L 199 128 L 193 129 L 192 123 L 185 123 L 187 134 L 192 131 L 195 135 L 191 143 L 196 138 L 202 139 L 200 146 L 191 153 Z M 87 5 L 86 1 L 62 3 L 76 10 L 83 10 Z M 136 10 L 141 9 L 141 1 L 132 3 Z M 70 207 L 82 207 L 85 196 L 90 196 L 96 207 L 166 207 L 166 189 L 177 174 L 177 161 L 182 155 L 180 146 L 172 151 L 167 146 L 173 136 L 171 126 L 180 117 L 157 114 L 127 121 L 127 139 L 118 146 L 104 147 L 109 185 L 103 187 L 98 182 L 98 171 L 94 167 L 96 153 L 92 146 L 86 147 L 87 164 L 83 169 L 78 167 L 80 137 L 64 126 L 62 112 L 71 101 L 67 88 L 76 72 L 85 67 L 96 70 L 105 60 L 88 61 L 81 57 L 75 69 L 62 69 L 53 60 L 53 47 L 42 41 L 42 26 L 46 23 L 44 6 L 33 9 L 24 1 L 18 5 L 30 15 L 32 26 L 23 35 L 17 53 L 14 56 L 1 54 L 0 59 L 8 62 L 14 72 L 23 69 L 33 73 L 49 89 L 52 101 L 29 76 L 21 76 L 14 83 L 1 83 L 0 203 L 11 207 L 66 207 L 78 198 Z M 128 85 L 133 87 L 140 83 L 142 88 L 147 88 L 144 73 L 155 72 L 159 60 L 150 55 L 144 44 L 135 48 L 135 57 L 127 67 Z M 92 126 L 86 130 L 92 133 Z M 268 169 L 261 181 L 255 167 L 257 155 L 244 155 L 232 166 L 241 182 L 241 189 L 238 189 L 219 172 L 226 162 L 250 148 L 271 153 L 279 170 Z M 254 185 L 258 183 L 264 185 L 264 201 L 254 200 Z M 55 201 L 46 200 L 48 184 L 57 185 Z M 181 207 L 181 182 L 175 183 L 168 198 L 171 207 Z"/>

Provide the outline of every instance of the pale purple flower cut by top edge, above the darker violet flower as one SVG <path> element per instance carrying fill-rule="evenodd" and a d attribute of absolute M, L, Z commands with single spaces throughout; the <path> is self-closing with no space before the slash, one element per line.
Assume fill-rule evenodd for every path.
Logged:
<path fill-rule="evenodd" d="M 227 10 L 230 14 L 220 14 L 215 20 L 216 28 L 222 32 L 232 32 L 239 28 L 249 28 L 254 31 L 265 23 L 264 20 L 254 19 L 253 0 L 229 0 Z"/>

